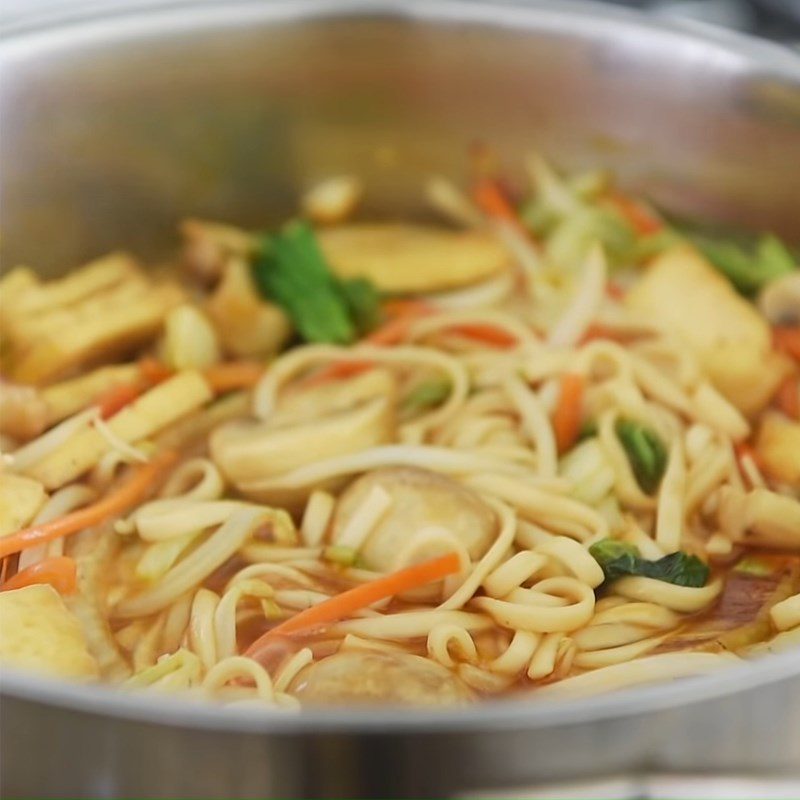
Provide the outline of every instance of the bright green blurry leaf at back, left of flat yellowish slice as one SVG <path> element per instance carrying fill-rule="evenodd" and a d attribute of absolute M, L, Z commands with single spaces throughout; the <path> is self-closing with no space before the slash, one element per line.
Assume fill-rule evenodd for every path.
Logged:
<path fill-rule="evenodd" d="M 261 292 L 286 311 L 309 342 L 348 344 L 377 321 L 375 288 L 363 279 L 338 280 L 306 222 L 290 222 L 263 237 L 253 274 Z"/>

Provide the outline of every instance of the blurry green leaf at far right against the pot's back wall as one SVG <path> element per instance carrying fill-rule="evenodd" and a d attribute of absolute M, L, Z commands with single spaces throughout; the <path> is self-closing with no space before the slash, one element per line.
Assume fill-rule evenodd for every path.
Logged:
<path fill-rule="evenodd" d="M 755 248 L 707 235 L 695 244 L 705 257 L 744 295 L 753 295 L 770 281 L 795 270 L 796 262 L 777 236 L 765 234 Z"/>

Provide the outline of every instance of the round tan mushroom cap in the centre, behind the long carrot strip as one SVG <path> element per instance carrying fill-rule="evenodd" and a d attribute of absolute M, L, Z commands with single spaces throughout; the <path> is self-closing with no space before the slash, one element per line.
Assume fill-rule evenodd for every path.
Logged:
<path fill-rule="evenodd" d="M 376 487 L 391 503 L 360 548 L 370 569 L 390 572 L 441 555 L 453 549 L 454 539 L 477 560 L 495 539 L 495 513 L 471 489 L 436 472 L 396 467 L 370 472 L 347 488 L 336 507 L 333 542 Z"/>

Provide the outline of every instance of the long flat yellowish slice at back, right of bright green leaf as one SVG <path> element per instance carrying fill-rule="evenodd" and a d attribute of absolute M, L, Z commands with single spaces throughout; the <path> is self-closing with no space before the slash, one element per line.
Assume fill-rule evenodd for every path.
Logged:
<path fill-rule="evenodd" d="M 376 223 L 329 228 L 317 236 L 337 275 L 368 278 L 386 292 L 467 286 L 509 265 L 503 246 L 481 231 Z"/>

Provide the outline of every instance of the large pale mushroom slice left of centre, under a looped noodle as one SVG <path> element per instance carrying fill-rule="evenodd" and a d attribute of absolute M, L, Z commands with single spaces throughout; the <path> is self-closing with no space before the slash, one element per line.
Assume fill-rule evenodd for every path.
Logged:
<path fill-rule="evenodd" d="M 292 489 L 271 484 L 316 461 L 391 442 L 395 394 L 390 373 L 369 382 L 288 393 L 268 420 L 237 420 L 215 430 L 209 438 L 211 456 L 246 496 L 294 508 L 312 489 L 333 490 L 341 481 Z"/>

